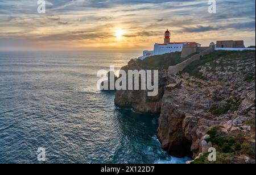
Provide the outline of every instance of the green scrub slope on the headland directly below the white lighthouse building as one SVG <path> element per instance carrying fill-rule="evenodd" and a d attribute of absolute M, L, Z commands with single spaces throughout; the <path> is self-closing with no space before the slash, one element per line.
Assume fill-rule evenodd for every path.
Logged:
<path fill-rule="evenodd" d="M 147 57 L 141 61 L 143 69 L 168 69 L 169 66 L 173 66 L 183 62 L 189 58 L 181 58 L 181 52 L 166 53 L 164 55 L 155 55 Z"/>

